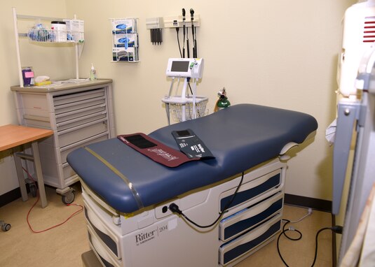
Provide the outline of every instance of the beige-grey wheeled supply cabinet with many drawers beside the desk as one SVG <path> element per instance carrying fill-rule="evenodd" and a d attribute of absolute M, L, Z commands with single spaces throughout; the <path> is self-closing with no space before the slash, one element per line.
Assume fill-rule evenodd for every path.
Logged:
<path fill-rule="evenodd" d="M 54 131 L 39 143 L 41 166 L 45 184 L 56 187 L 64 203 L 74 201 L 69 185 L 79 180 L 67 163 L 67 154 L 115 136 L 111 84 L 112 80 L 100 79 L 50 87 L 11 87 L 18 122 Z"/>

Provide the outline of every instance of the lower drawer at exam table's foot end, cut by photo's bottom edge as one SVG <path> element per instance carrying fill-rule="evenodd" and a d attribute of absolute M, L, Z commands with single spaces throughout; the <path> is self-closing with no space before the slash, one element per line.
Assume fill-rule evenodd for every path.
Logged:
<path fill-rule="evenodd" d="M 87 225 L 88 229 L 88 241 L 90 243 L 90 247 L 93 249 L 93 252 L 97 255 L 97 257 L 102 261 L 102 264 L 104 266 L 116 266 L 120 267 L 122 266 L 122 261 L 116 259 L 111 252 L 103 245 L 102 241 L 100 241 L 99 236 L 97 236 L 97 233 L 91 227 L 90 225 Z"/>

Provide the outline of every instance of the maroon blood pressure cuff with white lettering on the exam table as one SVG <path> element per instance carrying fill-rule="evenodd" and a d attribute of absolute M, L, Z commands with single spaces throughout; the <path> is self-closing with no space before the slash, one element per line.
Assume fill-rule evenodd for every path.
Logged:
<path fill-rule="evenodd" d="M 144 133 L 132 133 L 117 136 L 123 143 L 137 150 L 144 156 L 149 157 L 153 161 L 168 167 L 177 167 L 188 161 L 198 160 L 199 158 L 189 158 L 186 154 L 174 150 L 168 145 L 147 136 Z"/>

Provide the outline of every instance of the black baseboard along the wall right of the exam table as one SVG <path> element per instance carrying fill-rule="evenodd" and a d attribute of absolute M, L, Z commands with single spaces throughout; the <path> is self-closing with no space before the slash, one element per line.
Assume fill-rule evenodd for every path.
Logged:
<path fill-rule="evenodd" d="M 307 196 L 296 196 L 292 194 L 285 194 L 284 203 L 287 205 L 295 205 L 297 207 L 312 208 L 313 210 L 320 210 L 332 213 L 332 201 L 324 199 L 313 199 Z"/>

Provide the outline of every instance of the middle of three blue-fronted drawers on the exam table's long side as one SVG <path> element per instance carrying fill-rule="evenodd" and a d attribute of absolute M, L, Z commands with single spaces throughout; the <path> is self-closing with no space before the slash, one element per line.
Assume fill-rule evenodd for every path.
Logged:
<path fill-rule="evenodd" d="M 224 242 L 240 236 L 248 229 L 266 221 L 277 212 L 281 212 L 284 193 L 274 194 L 260 203 L 236 212 L 235 214 L 221 219 L 219 223 L 219 238 Z"/>

